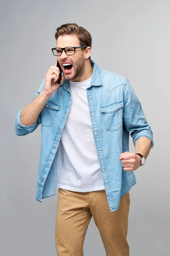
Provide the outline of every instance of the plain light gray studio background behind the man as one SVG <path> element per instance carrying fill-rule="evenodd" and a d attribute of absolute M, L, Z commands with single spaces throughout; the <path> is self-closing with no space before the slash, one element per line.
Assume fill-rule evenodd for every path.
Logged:
<path fill-rule="evenodd" d="M 54 65 L 55 29 L 65 23 L 77 23 L 91 33 L 92 60 L 127 77 L 142 103 L 155 146 L 135 171 L 127 240 L 130 256 L 169 253 L 169 13 L 169 0 L 0 2 L 0 255 L 57 255 L 58 192 L 41 204 L 35 201 L 40 126 L 18 137 L 14 122 Z M 101 52 L 101 47 L 106 50 Z M 130 151 L 135 152 L 131 137 Z M 84 255 L 105 255 L 93 218 Z"/>

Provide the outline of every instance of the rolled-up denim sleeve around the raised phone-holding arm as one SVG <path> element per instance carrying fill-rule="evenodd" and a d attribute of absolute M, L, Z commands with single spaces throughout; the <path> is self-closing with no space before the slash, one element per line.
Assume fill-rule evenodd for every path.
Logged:
<path fill-rule="evenodd" d="M 33 98 L 35 99 L 39 94 L 40 92 L 42 91 L 43 87 L 44 87 L 44 83 L 45 83 L 45 79 L 43 79 L 39 89 L 36 91 L 36 96 Z M 31 101 L 33 101 L 33 99 L 31 99 Z M 31 102 L 30 101 L 30 102 Z M 29 102 L 29 103 L 30 103 Z M 25 108 L 25 107 L 24 107 Z M 24 109 L 22 108 L 18 113 L 17 113 L 17 116 L 15 118 L 15 125 L 14 125 L 14 131 L 15 133 L 18 135 L 18 136 L 24 136 L 24 135 L 27 135 L 33 131 L 35 131 L 35 129 L 37 129 L 37 127 L 40 125 L 41 123 L 41 112 L 37 118 L 37 121 L 33 124 L 33 125 L 22 125 L 21 122 L 20 122 L 20 116 L 21 116 L 21 112 L 22 110 Z"/>

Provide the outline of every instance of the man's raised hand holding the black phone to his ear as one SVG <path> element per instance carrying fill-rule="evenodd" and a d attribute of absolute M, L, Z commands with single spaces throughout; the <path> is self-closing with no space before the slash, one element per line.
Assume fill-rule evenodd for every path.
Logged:
<path fill-rule="evenodd" d="M 43 91 L 47 95 L 52 95 L 59 87 L 59 83 L 57 82 L 57 79 L 59 79 L 59 67 L 57 67 L 57 60 L 54 64 L 54 66 L 51 66 L 48 70 L 48 72 L 45 75 L 45 84 Z M 61 77 L 61 82 L 64 81 L 64 76 Z"/>

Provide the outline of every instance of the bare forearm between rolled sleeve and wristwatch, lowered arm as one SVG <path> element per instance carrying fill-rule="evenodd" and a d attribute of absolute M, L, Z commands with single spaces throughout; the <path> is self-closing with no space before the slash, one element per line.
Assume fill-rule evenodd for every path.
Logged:
<path fill-rule="evenodd" d="M 139 137 L 135 142 L 135 153 L 140 153 L 146 159 L 151 148 L 151 140 L 147 137 Z"/>

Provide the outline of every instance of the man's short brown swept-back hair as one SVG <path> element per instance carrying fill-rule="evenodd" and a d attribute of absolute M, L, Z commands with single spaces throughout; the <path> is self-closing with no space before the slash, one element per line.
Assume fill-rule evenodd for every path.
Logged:
<path fill-rule="evenodd" d="M 63 24 L 56 29 L 55 38 L 56 41 L 59 36 L 62 35 L 76 35 L 79 39 L 80 46 L 90 46 L 92 44 L 91 33 L 81 26 L 78 26 L 77 23 L 67 23 Z M 89 57 L 91 60 L 91 57 Z"/>

